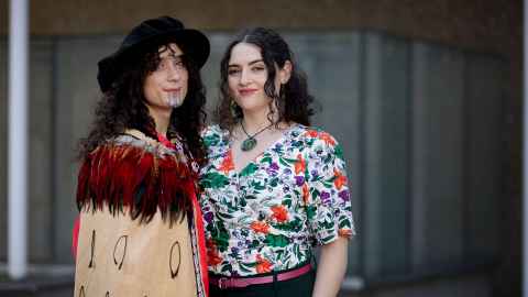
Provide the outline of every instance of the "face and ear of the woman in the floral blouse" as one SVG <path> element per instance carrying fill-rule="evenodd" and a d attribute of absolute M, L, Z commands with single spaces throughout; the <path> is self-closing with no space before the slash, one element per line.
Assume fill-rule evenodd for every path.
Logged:
<path fill-rule="evenodd" d="M 283 69 L 276 67 L 275 90 L 289 78 L 289 62 Z M 272 98 L 264 88 L 268 69 L 262 58 L 261 48 L 250 43 L 239 43 L 231 50 L 228 63 L 228 86 L 231 96 L 243 111 L 267 109 Z"/>

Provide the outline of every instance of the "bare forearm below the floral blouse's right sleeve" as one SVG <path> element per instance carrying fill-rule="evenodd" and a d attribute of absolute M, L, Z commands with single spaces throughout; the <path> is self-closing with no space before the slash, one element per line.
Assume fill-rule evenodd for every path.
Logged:
<path fill-rule="evenodd" d="M 346 272 L 348 244 L 348 239 L 339 238 L 321 246 L 312 297 L 338 295 Z"/>

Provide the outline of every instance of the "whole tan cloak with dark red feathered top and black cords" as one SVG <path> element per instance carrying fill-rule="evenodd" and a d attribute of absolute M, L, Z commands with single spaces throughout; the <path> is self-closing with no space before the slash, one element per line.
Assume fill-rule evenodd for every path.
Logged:
<path fill-rule="evenodd" d="M 207 296 L 197 168 L 173 144 L 133 130 L 81 164 L 75 296 Z"/>

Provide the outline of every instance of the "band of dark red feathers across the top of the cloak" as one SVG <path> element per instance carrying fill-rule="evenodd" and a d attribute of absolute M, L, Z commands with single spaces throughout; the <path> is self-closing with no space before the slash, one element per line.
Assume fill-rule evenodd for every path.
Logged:
<path fill-rule="evenodd" d="M 129 207 L 133 218 L 148 222 L 157 209 L 176 221 L 190 210 L 197 176 L 182 157 L 131 144 L 105 144 L 84 161 L 78 176 L 77 205 L 110 211 Z"/>

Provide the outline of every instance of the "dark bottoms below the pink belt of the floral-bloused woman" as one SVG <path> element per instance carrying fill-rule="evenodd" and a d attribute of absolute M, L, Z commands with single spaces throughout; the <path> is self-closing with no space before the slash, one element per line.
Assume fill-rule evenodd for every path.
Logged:
<path fill-rule="evenodd" d="M 210 297 L 311 297 L 315 280 L 316 271 L 311 270 L 296 278 L 283 282 L 227 289 L 220 289 L 211 284 L 209 290 Z"/>

